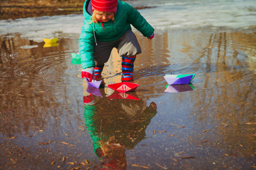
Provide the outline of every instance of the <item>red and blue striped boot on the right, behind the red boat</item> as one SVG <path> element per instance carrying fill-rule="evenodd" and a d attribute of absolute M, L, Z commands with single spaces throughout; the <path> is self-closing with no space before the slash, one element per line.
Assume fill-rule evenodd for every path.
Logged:
<path fill-rule="evenodd" d="M 133 76 L 133 63 L 135 61 L 136 55 L 131 57 L 122 57 L 122 82 L 131 81 L 134 79 Z"/>

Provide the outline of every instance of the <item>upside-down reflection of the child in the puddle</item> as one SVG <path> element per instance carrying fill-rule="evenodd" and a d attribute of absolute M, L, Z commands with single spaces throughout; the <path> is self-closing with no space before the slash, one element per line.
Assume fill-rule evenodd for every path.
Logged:
<path fill-rule="evenodd" d="M 152 102 L 143 109 L 141 99 L 110 100 L 93 95 L 84 96 L 84 103 L 85 126 L 93 139 L 94 152 L 104 166 L 126 169 L 125 148 L 131 149 L 144 139 L 156 114 L 156 104 Z"/>

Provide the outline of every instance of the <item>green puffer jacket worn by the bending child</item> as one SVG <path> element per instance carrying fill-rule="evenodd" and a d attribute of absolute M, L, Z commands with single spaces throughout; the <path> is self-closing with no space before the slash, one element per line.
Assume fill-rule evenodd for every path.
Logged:
<path fill-rule="evenodd" d="M 79 53 L 82 69 L 95 66 L 93 58 L 94 45 L 96 45 L 95 38 L 97 41 L 115 41 L 119 39 L 125 31 L 131 29 L 131 25 L 138 29 L 145 37 L 150 36 L 154 32 L 154 28 L 147 23 L 146 19 L 144 19 L 135 8 L 122 1 L 118 1 L 117 14 L 114 18 L 115 22 L 109 20 L 105 23 L 98 22 L 98 24 L 90 24 L 92 16 L 86 11 L 89 2 L 90 0 L 85 0 L 84 3 L 85 19 L 79 38 Z"/>

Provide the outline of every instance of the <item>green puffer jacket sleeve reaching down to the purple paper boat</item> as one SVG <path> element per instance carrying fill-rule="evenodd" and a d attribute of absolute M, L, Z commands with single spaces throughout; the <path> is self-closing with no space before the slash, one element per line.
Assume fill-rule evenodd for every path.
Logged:
<path fill-rule="evenodd" d="M 79 37 L 79 54 L 81 57 L 82 69 L 94 67 L 94 35 L 93 29 L 89 24 L 84 23 Z"/>

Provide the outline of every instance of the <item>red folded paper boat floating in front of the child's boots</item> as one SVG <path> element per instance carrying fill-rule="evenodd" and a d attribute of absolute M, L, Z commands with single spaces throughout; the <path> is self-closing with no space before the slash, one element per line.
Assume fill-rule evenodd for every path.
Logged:
<path fill-rule="evenodd" d="M 138 86 L 139 84 L 129 82 L 121 82 L 108 85 L 109 88 L 112 88 L 113 90 L 119 91 L 121 93 L 134 91 Z"/>

